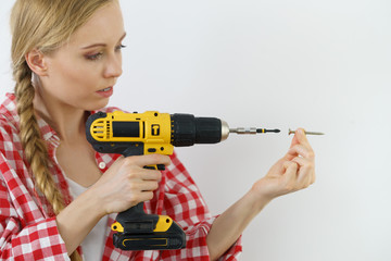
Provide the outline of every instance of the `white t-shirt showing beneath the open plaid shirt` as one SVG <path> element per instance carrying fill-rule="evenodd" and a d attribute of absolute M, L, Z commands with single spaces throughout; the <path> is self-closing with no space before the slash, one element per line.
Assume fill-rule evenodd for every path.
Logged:
<path fill-rule="evenodd" d="M 66 177 L 66 182 L 70 186 L 72 197 L 75 199 L 88 188 L 75 183 L 71 178 Z M 102 260 L 104 244 L 105 244 L 105 231 L 108 227 L 108 215 L 103 216 L 87 237 L 81 243 L 83 256 L 85 261 Z"/>

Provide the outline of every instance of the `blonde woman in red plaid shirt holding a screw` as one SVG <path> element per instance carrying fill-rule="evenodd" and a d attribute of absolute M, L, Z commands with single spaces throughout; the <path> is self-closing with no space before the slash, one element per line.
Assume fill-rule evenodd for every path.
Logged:
<path fill-rule="evenodd" d="M 16 85 L 0 108 L 1 259 L 237 260 L 251 220 L 274 198 L 314 183 L 314 152 L 299 129 L 263 178 L 211 216 L 175 154 L 100 154 L 86 140 L 88 115 L 116 110 L 102 108 L 122 74 L 117 0 L 17 0 L 11 27 Z M 143 169 L 155 164 L 167 171 Z M 113 247 L 115 213 L 142 201 L 182 226 L 185 249 Z"/>

